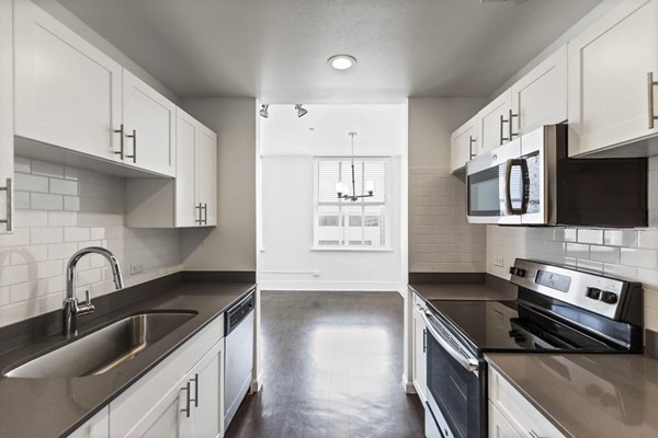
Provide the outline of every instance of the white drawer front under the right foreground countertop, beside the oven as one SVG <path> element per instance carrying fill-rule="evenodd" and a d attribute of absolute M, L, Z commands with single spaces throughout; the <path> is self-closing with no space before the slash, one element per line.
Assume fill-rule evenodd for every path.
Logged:
<path fill-rule="evenodd" d="M 491 367 L 489 367 L 489 401 L 490 406 L 496 407 L 522 437 L 566 438 L 553 423 Z"/>

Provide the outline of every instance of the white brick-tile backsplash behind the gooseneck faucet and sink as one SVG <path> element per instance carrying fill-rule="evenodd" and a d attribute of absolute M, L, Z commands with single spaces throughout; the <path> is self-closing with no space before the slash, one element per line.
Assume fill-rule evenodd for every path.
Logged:
<path fill-rule="evenodd" d="M 0 326 L 61 307 L 65 268 L 79 249 L 118 258 L 126 286 L 181 269 L 181 232 L 124 227 L 125 181 L 59 164 L 15 159 L 15 232 L 0 235 Z M 131 264 L 144 273 L 131 275 Z M 78 264 L 78 297 L 114 291 L 103 257 Z"/>

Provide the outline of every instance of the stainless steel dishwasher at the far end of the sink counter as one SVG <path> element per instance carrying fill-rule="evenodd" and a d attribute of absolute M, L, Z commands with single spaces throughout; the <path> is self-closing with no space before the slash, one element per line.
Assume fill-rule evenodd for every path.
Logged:
<path fill-rule="evenodd" d="M 251 385 L 253 369 L 253 291 L 225 314 L 224 429 L 228 428 Z"/>

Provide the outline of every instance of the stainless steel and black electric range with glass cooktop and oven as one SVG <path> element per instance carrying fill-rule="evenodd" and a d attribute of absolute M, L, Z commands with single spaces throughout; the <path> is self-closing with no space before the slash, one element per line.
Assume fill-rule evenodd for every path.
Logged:
<path fill-rule="evenodd" d="M 642 353 L 642 285 L 521 258 L 510 273 L 514 301 L 428 302 L 428 437 L 487 436 L 485 353 Z"/>

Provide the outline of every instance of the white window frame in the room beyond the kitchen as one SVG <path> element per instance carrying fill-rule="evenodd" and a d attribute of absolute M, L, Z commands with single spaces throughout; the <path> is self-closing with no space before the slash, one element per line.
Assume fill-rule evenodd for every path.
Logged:
<path fill-rule="evenodd" d="M 338 197 L 336 198 L 334 201 L 322 201 L 320 203 L 319 200 L 319 168 L 320 168 L 320 163 L 324 161 L 343 161 L 343 162 L 351 162 L 352 160 L 352 155 L 325 155 L 325 157 L 314 157 L 314 172 L 313 172 L 313 176 L 314 176 L 314 194 L 313 194 L 313 245 L 311 245 L 311 251 L 333 251 L 333 252 L 393 252 L 393 246 L 392 246 L 392 222 L 393 222 L 393 218 L 392 218 L 392 208 L 390 208 L 390 204 L 392 204 L 392 157 L 384 157 L 384 155 L 354 155 L 354 163 L 360 163 L 360 162 L 367 162 L 367 161 L 376 161 L 376 162 L 384 162 L 384 181 L 385 181 L 385 193 L 384 193 L 384 201 L 375 201 L 375 203 L 367 203 L 366 199 L 367 198 L 362 198 L 359 199 L 356 201 L 352 201 L 352 200 L 345 200 L 345 199 L 339 199 Z M 343 182 L 344 183 L 344 182 Z M 349 183 L 351 184 L 352 181 L 350 178 Z M 375 187 L 376 189 L 376 187 Z M 347 217 L 342 207 L 347 207 L 347 206 L 351 206 L 351 205 L 359 205 L 361 207 L 361 218 L 362 218 L 362 224 L 361 228 L 363 229 L 365 226 L 363 224 L 363 218 L 367 215 L 365 215 L 365 208 L 370 205 L 370 206 L 383 206 L 384 207 L 384 216 L 385 216 L 385 231 L 384 231 L 384 239 L 385 239 L 385 244 L 384 245 L 378 245 L 378 246 L 372 246 L 372 245 L 349 245 L 347 244 L 347 241 L 344 239 L 344 232 L 345 232 L 345 226 L 343 222 L 343 219 Z M 338 245 L 320 245 L 318 244 L 318 228 L 319 228 L 319 207 L 320 206 L 338 206 L 339 207 L 339 217 L 341 218 L 341 235 L 340 235 L 340 242 Z M 363 234 L 362 234 L 362 239 L 363 239 Z"/>

